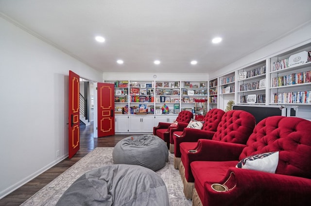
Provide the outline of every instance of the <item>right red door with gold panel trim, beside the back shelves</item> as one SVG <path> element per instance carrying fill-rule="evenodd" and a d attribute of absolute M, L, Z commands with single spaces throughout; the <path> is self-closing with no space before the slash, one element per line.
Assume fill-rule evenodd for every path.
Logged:
<path fill-rule="evenodd" d="M 115 134 L 114 93 L 114 84 L 97 83 L 97 137 L 111 136 Z"/>

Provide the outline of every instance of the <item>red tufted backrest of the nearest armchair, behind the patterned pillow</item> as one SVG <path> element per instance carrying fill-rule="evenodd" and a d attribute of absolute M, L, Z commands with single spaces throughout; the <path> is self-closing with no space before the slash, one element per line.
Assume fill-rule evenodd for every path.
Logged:
<path fill-rule="evenodd" d="M 311 121 L 272 116 L 261 120 L 240 160 L 253 154 L 279 152 L 277 174 L 311 178 Z"/>

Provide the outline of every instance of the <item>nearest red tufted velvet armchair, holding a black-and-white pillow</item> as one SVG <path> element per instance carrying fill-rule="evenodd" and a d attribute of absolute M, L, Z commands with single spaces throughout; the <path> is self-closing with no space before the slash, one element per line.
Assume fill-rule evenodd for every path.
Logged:
<path fill-rule="evenodd" d="M 200 139 L 196 147 L 196 153 L 188 154 L 195 186 L 193 206 L 311 203 L 311 121 L 268 117 L 256 125 L 246 146 Z M 246 156 L 275 151 L 279 152 L 275 173 L 236 168 Z M 211 188 L 214 183 L 228 190 L 215 191 Z"/>

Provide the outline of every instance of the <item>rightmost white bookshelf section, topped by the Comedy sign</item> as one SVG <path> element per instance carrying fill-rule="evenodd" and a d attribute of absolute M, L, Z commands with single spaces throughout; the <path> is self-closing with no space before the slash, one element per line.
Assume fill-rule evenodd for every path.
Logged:
<path fill-rule="evenodd" d="M 270 104 L 311 105 L 311 43 L 270 59 Z"/>

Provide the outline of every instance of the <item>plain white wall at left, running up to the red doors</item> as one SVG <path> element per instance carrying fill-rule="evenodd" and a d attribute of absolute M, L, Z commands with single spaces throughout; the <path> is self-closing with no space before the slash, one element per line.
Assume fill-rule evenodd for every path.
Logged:
<path fill-rule="evenodd" d="M 1 17 L 0 28 L 2 198 L 68 155 L 69 70 L 103 74 Z"/>

